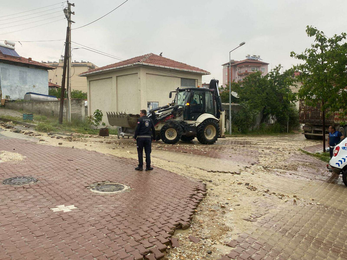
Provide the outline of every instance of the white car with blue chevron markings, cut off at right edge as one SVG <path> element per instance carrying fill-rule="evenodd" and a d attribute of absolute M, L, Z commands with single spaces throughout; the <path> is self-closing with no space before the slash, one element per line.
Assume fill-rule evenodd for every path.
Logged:
<path fill-rule="evenodd" d="M 329 161 L 331 170 L 336 174 L 342 173 L 342 181 L 347 186 L 347 139 L 343 139 L 334 147 L 332 158 Z"/>

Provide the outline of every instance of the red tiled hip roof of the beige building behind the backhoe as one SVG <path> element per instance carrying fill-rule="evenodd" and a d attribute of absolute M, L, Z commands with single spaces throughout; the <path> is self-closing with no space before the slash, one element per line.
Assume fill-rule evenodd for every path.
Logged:
<path fill-rule="evenodd" d="M 137 56 L 128 60 L 113 63 L 107 66 L 103 66 L 97 69 L 88 70 L 79 74 L 79 76 L 97 73 L 97 72 L 101 72 L 101 71 L 109 70 L 109 69 L 123 68 L 127 66 L 132 66 L 132 65 L 147 65 L 147 66 L 162 67 L 162 68 L 174 69 L 174 70 L 191 71 L 195 73 L 201 73 L 203 75 L 210 74 L 210 72 L 200 69 L 198 67 L 194 67 L 186 63 L 171 60 L 171 59 L 156 55 L 154 53 L 149 53 L 149 54 Z"/>

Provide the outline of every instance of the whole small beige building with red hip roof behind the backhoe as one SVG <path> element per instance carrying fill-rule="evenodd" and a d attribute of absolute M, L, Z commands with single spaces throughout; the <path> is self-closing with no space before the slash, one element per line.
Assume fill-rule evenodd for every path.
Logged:
<path fill-rule="evenodd" d="M 138 114 L 172 100 L 170 91 L 177 87 L 201 86 L 202 76 L 210 72 L 153 53 L 85 71 L 87 78 L 88 115 L 100 109 L 106 112 Z"/>

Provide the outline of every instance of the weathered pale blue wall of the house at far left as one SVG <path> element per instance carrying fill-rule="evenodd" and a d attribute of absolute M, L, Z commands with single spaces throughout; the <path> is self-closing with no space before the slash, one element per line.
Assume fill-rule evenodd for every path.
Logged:
<path fill-rule="evenodd" d="M 0 62 L 0 82 L 2 98 L 23 99 L 27 92 L 48 95 L 48 72 L 44 69 Z"/>

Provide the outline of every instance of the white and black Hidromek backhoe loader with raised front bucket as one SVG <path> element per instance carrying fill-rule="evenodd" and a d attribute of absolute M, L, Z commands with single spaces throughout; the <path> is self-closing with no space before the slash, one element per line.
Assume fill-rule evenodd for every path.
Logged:
<path fill-rule="evenodd" d="M 209 88 L 177 88 L 169 93 L 172 103 L 152 109 L 147 116 L 153 120 L 157 140 L 176 144 L 190 142 L 195 137 L 201 144 L 214 144 L 224 137 L 225 112 L 218 90 L 218 80 L 212 79 Z M 118 127 L 118 136 L 134 136 L 139 115 L 107 112 L 109 124 Z"/>

